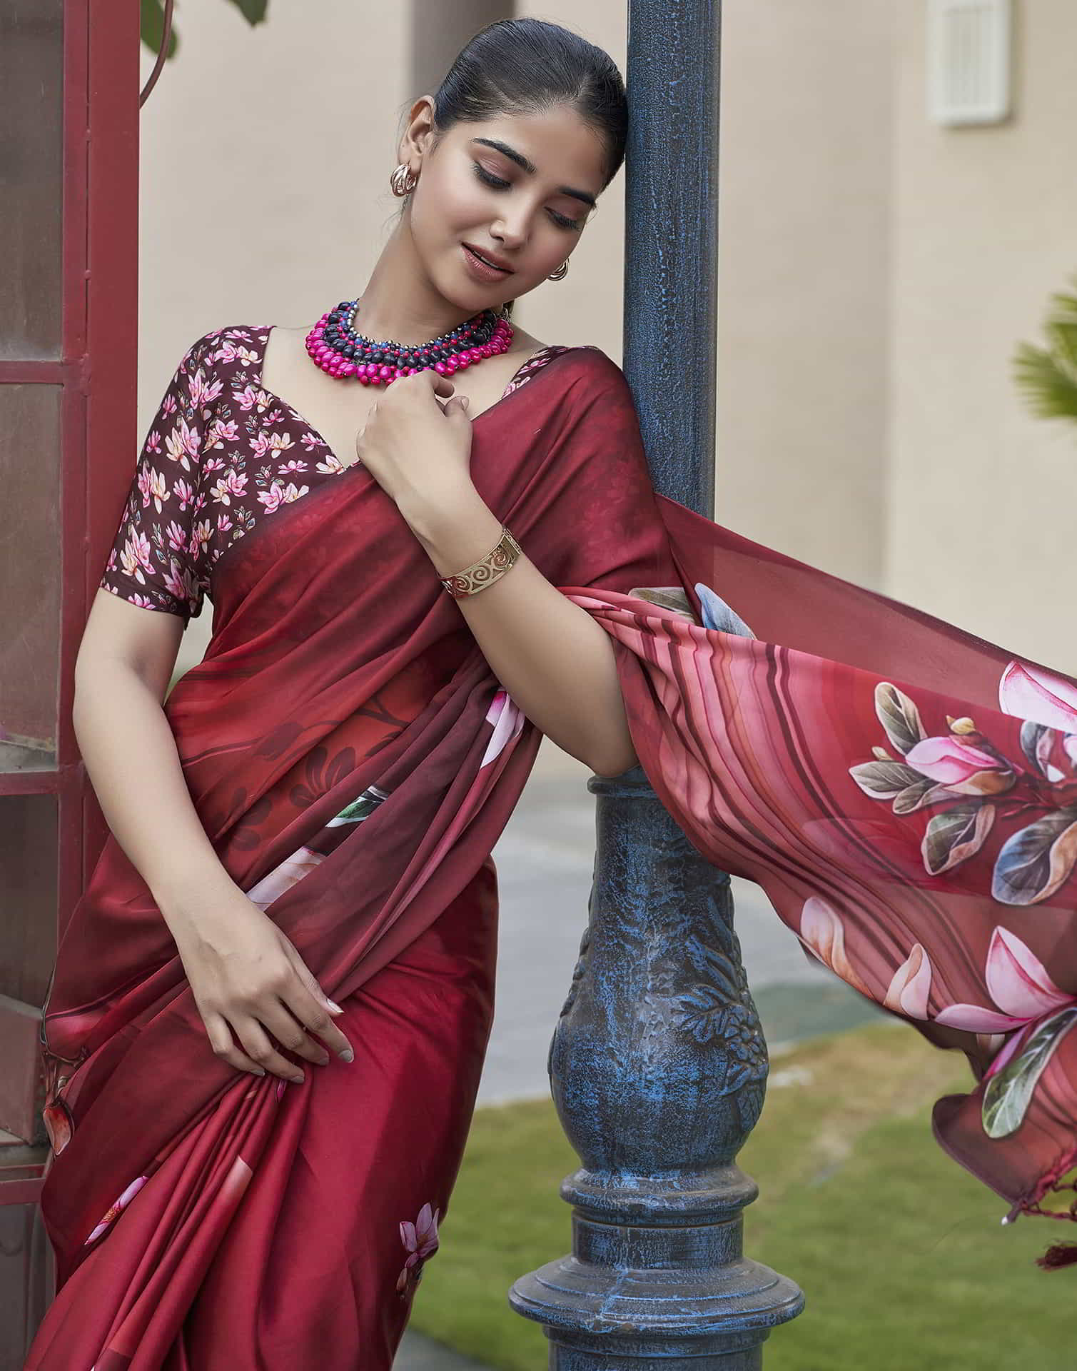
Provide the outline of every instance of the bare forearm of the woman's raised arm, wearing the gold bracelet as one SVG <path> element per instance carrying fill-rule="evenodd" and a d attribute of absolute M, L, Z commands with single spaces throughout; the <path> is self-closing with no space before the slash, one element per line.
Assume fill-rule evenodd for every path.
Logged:
<path fill-rule="evenodd" d="M 502 532 L 474 487 L 401 513 L 438 576 L 478 561 Z M 636 765 L 610 636 L 526 553 L 456 603 L 491 670 L 541 732 L 602 776 Z"/>

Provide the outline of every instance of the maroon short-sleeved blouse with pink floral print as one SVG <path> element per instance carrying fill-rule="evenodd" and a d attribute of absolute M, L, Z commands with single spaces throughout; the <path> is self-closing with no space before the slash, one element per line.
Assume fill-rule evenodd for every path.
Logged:
<path fill-rule="evenodd" d="M 184 354 L 151 424 L 100 588 L 184 622 L 212 600 L 225 550 L 341 462 L 280 395 L 262 385 L 273 325 L 236 325 Z M 565 347 L 533 354 L 502 399 Z"/>

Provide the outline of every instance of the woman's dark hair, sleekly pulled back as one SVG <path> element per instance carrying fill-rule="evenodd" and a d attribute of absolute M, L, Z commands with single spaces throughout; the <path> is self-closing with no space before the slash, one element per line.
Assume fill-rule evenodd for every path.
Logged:
<path fill-rule="evenodd" d="M 617 63 L 558 23 L 499 19 L 486 25 L 456 55 L 433 100 L 434 147 L 455 123 L 570 104 L 606 144 L 603 191 L 625 160 L 628 96 Z M 508 300 L 506 311 L 511 306 Z"/>

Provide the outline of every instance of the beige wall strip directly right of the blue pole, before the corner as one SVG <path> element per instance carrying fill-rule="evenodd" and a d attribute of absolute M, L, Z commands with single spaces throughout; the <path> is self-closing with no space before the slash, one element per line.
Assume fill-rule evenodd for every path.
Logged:
<path fill-rule="evenodd" d="M 874 590 L 892 12 L 893 0 L 726 0 L 722 26 L 715 518 Z"/>

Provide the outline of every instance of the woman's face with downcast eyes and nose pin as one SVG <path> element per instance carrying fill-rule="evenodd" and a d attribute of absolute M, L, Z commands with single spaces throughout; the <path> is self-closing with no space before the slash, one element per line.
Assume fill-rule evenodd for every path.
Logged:
<path fill-rule="evenodd" d="M 562 104 L 543 114 L 458 123 L 426 151 L 432 106 L 415 110 L 419 122 L 408 129 L 415 141 L 406 137 L 401 160 L 419 170 L 411 234 L 434 288 L 469 313 L 526 295 L 580 241 L 602 189 L 600 136 Z M 511 271 L 484 270 L 465 244 Z"/>

